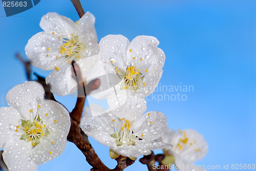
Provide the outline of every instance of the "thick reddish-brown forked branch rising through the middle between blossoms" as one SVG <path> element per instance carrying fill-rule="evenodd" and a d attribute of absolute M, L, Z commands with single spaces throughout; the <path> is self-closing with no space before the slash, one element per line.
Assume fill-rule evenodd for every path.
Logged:
<path fill-rule="evenodd" d="M 76 63 L 72 62 L 73 66 L 73 78 L 76 79 L 77 82 L 81 81 L 81 72 L 79 67 L 76 65 Z M 119 156 L 116 161 L 117 165 L 114 169 L 110 169 L 107 166 L 104 165 L 104 163 L 100 160 L 98 155 L 95 153 L 94 148 L 92 147 L 91 143 L 88 140 L 88 136 L 84 134 L 83 131 L 81 131 L 79 123 L 80 118 L 82 116 L 83 112 L 83 106 L 84 102 L 86 101 L 86 95 L 89 94 L 91 91 L 96 90 L 99 87 L 100 81 L 99 79 L 95 79 L 87 86 L 84 86 L 84 83 L 78 83 L 78 97 L 76 101 L 75 108 L 70 113 L 71 118 L 71 127 L 70 132 L 67 137 L 68 141 L 73 142 L 83 153 L 84 156 L 86 156 L 87 162 L 92 166 L 91 171 L 120 171 L 126 168 L 127 166 L 130 166 L 135 161 L 131 160 L 130 158 Z"/>

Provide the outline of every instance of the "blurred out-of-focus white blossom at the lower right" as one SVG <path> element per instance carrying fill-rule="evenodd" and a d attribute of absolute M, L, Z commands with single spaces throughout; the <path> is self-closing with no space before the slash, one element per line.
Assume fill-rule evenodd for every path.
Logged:
<path fill-rule="evenodd" d="M 197 165 L 191 164 L 202 159 L 208 151 L 208 145 L 203 136 L 195 130 L 179 130 L 178 133 L 173 130 L 167 130 L 159 141 L 172 145 L 164 148 L 164 153 L 166 156 L 175 157 L 175 165 L 179 170 L 204 170 Z"/>

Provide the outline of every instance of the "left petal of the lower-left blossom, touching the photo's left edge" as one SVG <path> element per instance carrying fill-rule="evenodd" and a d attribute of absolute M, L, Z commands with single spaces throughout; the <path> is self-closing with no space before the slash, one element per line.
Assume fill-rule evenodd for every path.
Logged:
<path fill-rule="evenodd" d="M 0 148 L 17 135 L 16 126 L 20 125 L 20 115 L 13 108 L 0 108 Z M 20 138 L 20 136 L 19 136 Z"/>

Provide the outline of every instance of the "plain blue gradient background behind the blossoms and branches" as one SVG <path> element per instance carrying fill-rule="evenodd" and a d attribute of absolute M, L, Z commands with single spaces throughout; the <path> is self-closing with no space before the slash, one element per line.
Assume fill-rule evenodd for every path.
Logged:
<path fill-rule="evenodd" d="M 98 40 L 108 34 L 158 38 L 166 55 L 161 86 L 192 85 L 194 92 L 155 92 L 153 95 L 185 94 L 186 101 L 155 101 L 148 97 L 147 111 L 163 112 L 170 128 L 195 129 L 209 145 L 201 165 L 256 163 L 255 40 L 256 1 L 83 1 L 85 11 L 96 17 Z M 15 53 L 25 56 L 27 41 L 42 31 L 40 18 L 48 12 L 78 20 L 68 0 L 41 1 L 34 8 L 6 17 L 0 6 L 0 106 L 6 93 L 26 80 Z M 50 72 L 33 68 L 38 74 Z M 71 111 L 75 98 L 57 97 Z M 111 168 L 109 148 L 91 142 L 102 161 Z M 156 153 L 160 153 L 157 151 Z M 90 170 L 82 153 L 68 143 L 65 152 L 38 170 Z M 136 161 L 125 170 L 147 170 Z M 231 169 L 229 169 L 231 170 Z"/>

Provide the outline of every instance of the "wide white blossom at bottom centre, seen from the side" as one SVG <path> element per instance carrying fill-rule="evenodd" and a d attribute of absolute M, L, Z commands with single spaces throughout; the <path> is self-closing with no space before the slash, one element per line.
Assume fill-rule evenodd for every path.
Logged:
<path fill-rule="evenodd" d="M 99 115 L 92 116 L 92 113 Z M 147 112 L 136 120 L 126 120 L 93 104 L 86 107 L 80 126 L 88 136 L 126 157 L 149 155 L 153 149 L 168 146 L 154 141 L 167 129 L 166 117 L 160 112 Z"/>

